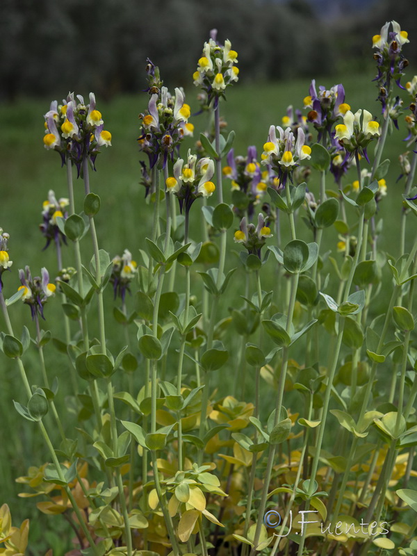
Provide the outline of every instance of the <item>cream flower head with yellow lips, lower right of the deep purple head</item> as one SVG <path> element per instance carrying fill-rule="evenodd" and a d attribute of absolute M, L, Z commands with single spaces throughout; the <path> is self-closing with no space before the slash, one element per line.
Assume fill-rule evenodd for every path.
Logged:
<path fill-rule="evenodd" d="M 367 110 L 352 113 L 348 110 L 343 117 L 343 124 L 336 125 L 335 138 L 341 142 L 348 153 L 359 153 L 369 162 L 366 147 L 373 139 L 379 137 L 379 123 L 373 120 Z"/>

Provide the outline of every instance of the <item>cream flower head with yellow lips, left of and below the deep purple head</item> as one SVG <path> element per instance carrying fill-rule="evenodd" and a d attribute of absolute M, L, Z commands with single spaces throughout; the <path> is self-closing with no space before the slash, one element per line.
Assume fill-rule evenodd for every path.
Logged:
<path fill-rule="evenodd" d="M 277 131 L 279 137 L 277 138 Z M 270 126 L 268 141 L 263 145 L 261 155 L 263 165 L 270 165 L 277 172 L 281 187 L 286 184 L 288 175 L 292 176 L 299 161 L 311 158 L 311 148 L 305 145 L 306 136 L 302 127 L 297 129 L 297 138 L 291 127 L 284 131 L 280 126 Z"/>

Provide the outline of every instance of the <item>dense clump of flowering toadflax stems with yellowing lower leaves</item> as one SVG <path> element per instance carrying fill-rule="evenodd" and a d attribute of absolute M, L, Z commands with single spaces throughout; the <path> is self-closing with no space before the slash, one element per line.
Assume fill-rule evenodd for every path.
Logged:
<path fill-rule="evenodd" d="M 0 345 L 22 382 L 19 418 L 49 454 L 17 482 L 51 527 L 67 519 L 68 555 L 417 553 L 417 76 L 402 85 L 397 22 L 372 42 L 379 115 L 313 80 L 303 108 L 241 154 L 220 115 L 238 82 L 231 42 L 213 30 L 204 43 L 193 83 L 208 127 L 187 149 L 186 95 L 147 60 L 138 215 L 152 222 L 112 254 L 96 233 L 98 164 L 90 187 L 111 133 L 93 93 L 51 102 L 43 142 L 66 180 L 46 192 L 40 231 L 56 267 L 18 270 L 0 230 Z M 399 120 L 409 151 L 395 186 L 384 145 Z M 379 217 L 386 197 L 395 230 Z M 62 322 L 49 322 L 57 302 Z M 22 330 L 9 316 L 19 305 L 31 309 Z M 44 357 L 54 346 L 71 413 L 63 369 Z M 33 553 L 28 520 L 12 523 L 5 504 L 1 553 Z"/>

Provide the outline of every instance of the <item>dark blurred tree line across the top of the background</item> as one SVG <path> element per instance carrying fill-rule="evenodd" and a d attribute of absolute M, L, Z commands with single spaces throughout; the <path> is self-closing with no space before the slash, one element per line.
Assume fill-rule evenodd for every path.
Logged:
<path fill-rule="evenodd" d="M 393 17 L 416 26 L 414 2 L 378 1 L 329 21 L 308 0 L 1 0 L 0 99 L 136 92 L 147 56 L 167 85 L 186 85 L 214 27 L 238 51 L 244 80 L 323 76 L 365 51 L 372 63 L 370 37 Z"/>

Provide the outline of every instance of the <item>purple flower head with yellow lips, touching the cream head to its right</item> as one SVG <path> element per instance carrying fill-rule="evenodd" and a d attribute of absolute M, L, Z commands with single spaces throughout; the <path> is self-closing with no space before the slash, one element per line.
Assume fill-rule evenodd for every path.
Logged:
<path fill-rule="evenodd" d="M 307 120 L 317 129 L 319 141 L 323 133 L 331 137 L 334 122 L 350 110 L 349 104 L 345 103 L 345 89 L 341 83 L 329 90 L 320 85 L 317 92 L 315 79 L 311 81 L 309 95 L 304 98 L 304 108 L 309 110 Z"/>

